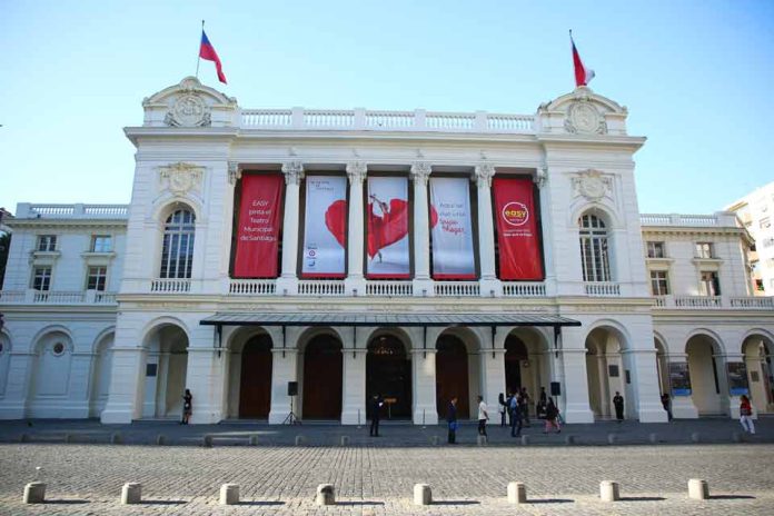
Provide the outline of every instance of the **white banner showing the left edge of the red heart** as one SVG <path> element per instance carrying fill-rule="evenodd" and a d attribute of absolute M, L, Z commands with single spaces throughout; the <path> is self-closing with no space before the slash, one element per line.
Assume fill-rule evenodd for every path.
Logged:
<path fill-rule="evenodd" d="M 302 278 L 344 278 L 347 246 L 347 178 L 307 176 Z"/>

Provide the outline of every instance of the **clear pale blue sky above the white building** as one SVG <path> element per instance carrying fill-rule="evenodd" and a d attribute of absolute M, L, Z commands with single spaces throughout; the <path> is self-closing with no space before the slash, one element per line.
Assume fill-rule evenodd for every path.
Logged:
<path fill-rule="evenodd" d="M 629 110 L 642 212 L 774 179 L 774 1 L 0 0 L 0 207 L 129 202 L 141 101 L 194 75 L 201 20 L 244 108 L 534 113 L 574 89 L 567 30 Z"/>

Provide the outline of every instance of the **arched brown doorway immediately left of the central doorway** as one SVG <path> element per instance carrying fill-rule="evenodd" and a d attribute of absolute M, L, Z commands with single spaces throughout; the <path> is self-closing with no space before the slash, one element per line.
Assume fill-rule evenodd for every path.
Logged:
<path fill-rule="evenodd" d="M 333 335 L 318 335 L 304 350 L 304 419 L 341 417 L 341 343 Z"/>

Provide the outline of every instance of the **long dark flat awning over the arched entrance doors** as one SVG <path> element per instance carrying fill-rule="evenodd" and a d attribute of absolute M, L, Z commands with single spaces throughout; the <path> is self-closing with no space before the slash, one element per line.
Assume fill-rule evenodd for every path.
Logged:
<path fill-rule="evenodd" d="M 219 312 L 199 321 L 208 326 L 580 326 L 580 321 L 546 314 L 276 314 Z"/>

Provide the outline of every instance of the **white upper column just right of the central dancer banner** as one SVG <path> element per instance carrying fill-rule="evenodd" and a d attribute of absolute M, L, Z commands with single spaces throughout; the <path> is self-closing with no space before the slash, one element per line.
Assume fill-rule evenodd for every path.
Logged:
<path fill-rule="evenodd" d="M 433 168 L 430 163 L 417 161 L 411 165 L 414 180 L 414 295 L 434 296 L 430 279 L 430 221 L 427 200 L 427 181 Z"/>

